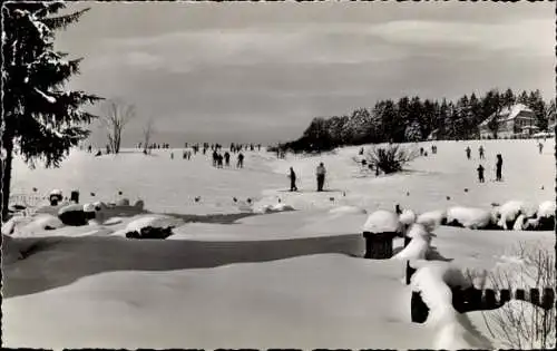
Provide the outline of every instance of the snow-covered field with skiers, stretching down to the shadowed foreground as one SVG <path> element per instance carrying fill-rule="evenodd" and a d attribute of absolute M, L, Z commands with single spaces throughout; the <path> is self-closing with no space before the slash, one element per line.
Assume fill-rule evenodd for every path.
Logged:
<path fill-rule="evenodd" d="M 480 144 L 487 156 L 481 162 L 485 184 L 476 177 Z M 511 199 L 536 205 L 554 201 L 555 143 L 547 140 L 543 155 L 532 140 L 436 145 L 437 155 L 380 177 L 364 176 L 354 163 L 359 147 L 286 159 L 246 153 L 244 169 L 216 169 L 202 155 L 189 162 L 170 159 L 170 150 L 102 157 L 76 150 L 59 169 L 30 170 L 18 160 L 13 193 L 37 187 L 41 195 L 52 188 L 69 195 L 79 189 L 84 203 L 141 198 L 146 209 L 158 214 L 52 231 L 35 222 L 17 225 L 2 248 L 4 259 L 11 259 L 3 265 L 4 345 L 496 348 L 499 341 L 489 340 L 477 312 L 450 316 L 455 324 L 441 329 L 440 322 L 412 323 L 405 261 L 361 259 L 360 233 L 370 213 L 392 211 L 395 204 L 420 214 L 452 206 L 490 211 L 492 203 Z M 475 150 L 471 160 L 465 155 L 468 145 Z M 429 149 L 430 144 L 416 146 Z M 504 157 L 504 183 L 491 182 L 498 153 Z M 328 168 L 323 193 L 315 192 L 319 162 Z M 299 177 L 296 193 L 286 191 L 290 166 Z M 234 224 L 184 223 L 160 215 L 229 214 L 265 206 L 296 211 Z M 41 216 L 40 223 L 52 222 Z M 173 225 L 175 234 L 164 241 L 125 237 L 130 228 L 149 224 Z M 423 245 L 462 270 L 506 264 L 508 248 L 520 241 L 555 245 L 553 232 L 440 226 L 433 233 Z M 402 240 L 395 238 L 395 251 L 401 246 Z M 18 252 L 23 252 L 22 260 L 17 260 Z"/>

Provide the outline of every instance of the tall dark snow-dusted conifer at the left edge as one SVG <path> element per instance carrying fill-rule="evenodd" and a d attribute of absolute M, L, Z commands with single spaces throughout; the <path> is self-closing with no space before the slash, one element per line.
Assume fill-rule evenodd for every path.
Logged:
<path fill-rule="evenodd" d="M 58 167 L 69 149 L 88 136 L 87 125 L 96 117 L 81 106 L 99 97 L 63 90 L 79 72 L 81 59 L 66 60 L 67 53 L 55 51 L 55 31 L 88 10 L 56 16 L 65 8 L 61 1 L 2 6 L 2 221 L 8 215 L 14 152 L 31 167 L 37 160 Z"/>

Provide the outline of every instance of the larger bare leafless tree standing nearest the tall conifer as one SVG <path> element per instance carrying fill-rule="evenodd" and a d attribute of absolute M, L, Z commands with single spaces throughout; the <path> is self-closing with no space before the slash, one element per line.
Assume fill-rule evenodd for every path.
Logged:
<path fill-rule="evenodd" d="M 119 99 L 111 99 L 102 105 L 101 125 L 107 129 L 108 146 L 118 154 L 121 145 L 121 133 L 128 121 L 136 116 L 136 108 Z"/>

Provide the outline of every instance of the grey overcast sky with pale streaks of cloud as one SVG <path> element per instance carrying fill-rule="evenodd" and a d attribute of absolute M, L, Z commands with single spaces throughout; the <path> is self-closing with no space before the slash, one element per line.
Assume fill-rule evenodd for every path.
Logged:
<path fill-rule="evenodd" d="M 404 95 L 498 87 L 555 96 L 555 3 L 82 2 L 57 46 L 70 87 L 137 106 L 156 142 L 275 143 L 316 116 Z M 105 145 L 98 128 L 94 142 Z"/>

